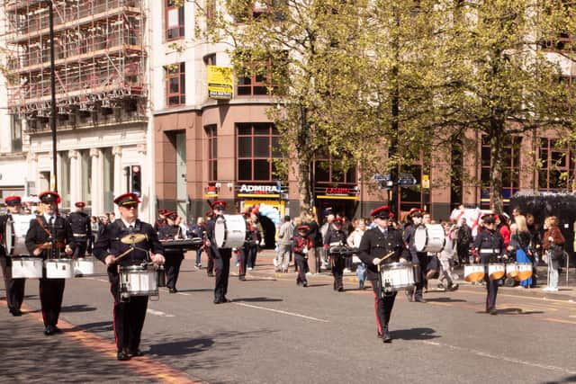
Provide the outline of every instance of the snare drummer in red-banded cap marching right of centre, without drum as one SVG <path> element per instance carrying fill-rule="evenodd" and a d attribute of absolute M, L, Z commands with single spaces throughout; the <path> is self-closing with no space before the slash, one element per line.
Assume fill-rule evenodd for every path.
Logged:
<path fill-rule="evenodd" d="M 376 308 L 376 330 L 383 343 L 392 343 L 388 325 L 392 317 L 392 308 L 396 291 L 384 292 L 382 277 L 379 271 L 381 263 L 405 262 L 410 254 L 404 246 L 399 230 L 389 227 L 390 207 L 378 207 L 370 215 L 374 217 L 375 227 L 368 229 L 358 246 L 358 257 L 368 265 L 368 280 L 372 281 L 374 290 L 374 307 Z M 391 255 L 392 254 L 392 255 Z M 391 255 L 384 260 L 385 255 Z"/>

